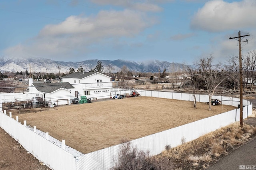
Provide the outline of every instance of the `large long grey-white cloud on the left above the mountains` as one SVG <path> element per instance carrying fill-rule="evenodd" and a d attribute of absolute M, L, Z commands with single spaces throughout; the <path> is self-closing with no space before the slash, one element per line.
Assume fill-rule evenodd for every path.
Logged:
<path fill-rule="evenodd" d="M 46 25 L 32 40 L 4 52 L 9 56 L 40 56 L 64 61 L 70 56 L 81 57 L 92 50 L 100 50 L 100 44 L 111 45 L 118 38 L 134 37 L 156 23 L 156 19 L 131 10 L 70 16 L 59 24 Z"/>

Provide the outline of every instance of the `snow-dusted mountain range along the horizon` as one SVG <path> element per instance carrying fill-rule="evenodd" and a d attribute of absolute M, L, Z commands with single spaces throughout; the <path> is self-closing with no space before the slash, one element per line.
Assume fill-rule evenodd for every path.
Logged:
<path fill-rule="evenodd" d="M 58 73 L 60 68 L 60 73 L 68 73 L 70 68 L 74 68 L 77 71 L 78 67 L 82 66 L 86 72 L 94 69 L 97 65 L 98 59 L 90 59 L 81 62 L 64 62 L 64 61 L 54 61 L 46 58 L 0 58 L 0 71 L 1 72 L 34 72 L 34 73 Z M 168 61 L 159 60 L 146 60 L 146 61 L 126 61 L 122 59 L 111 60 L 100 60 L 104 67 L 104 72 L 108 72 L 107 67 L 111 65 L 113 70 L 112 73 L 121 71 L 122 67 L 125 65 L 129 71 L 134 72 L 162 72 L 166 69 L 166 72 L 180 71 L 184 68 L 184 64 L 180 63 L 170 63 Z"/>

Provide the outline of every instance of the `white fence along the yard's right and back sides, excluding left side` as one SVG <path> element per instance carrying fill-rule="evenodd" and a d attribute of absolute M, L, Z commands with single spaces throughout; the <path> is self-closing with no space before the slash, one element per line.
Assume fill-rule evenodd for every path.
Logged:
<path fill-rule="evenodd" d="M 141 96 L 160 97 L 166 99 L 177 99 L 184 101 L 194 101 L 194 97 L 189 93 L 163 92 L 163 91 L 143 91 L 136 90 Z M 116 94 L 126 94 L 127 91 L 116 91 Z M 129 91 L 128 93 L 131 93 Z M 224 105 L 238 106 L 239 99 L 234 97 L 213 96 L 214 99 L 220 99 Z M 197 95 L 198 102 L 209 101 L 208 95 Z M 252 105 L 249 101 L 243 100 L 244 119 L 252 114 Z M 139 150 L 149 151 L 150 155 L 160 154 L 165 150 L 165 146 L 170 145 L 176 147 L 181 144 L 181 139 L 186 141 L 194 140 L 204 134 L 212 132 L 220 127 L 230 125 L 240 120 L 240 109 L 235 109 L 226 113 L 208 117 L 199 121 L 188 123 L 180 127 L 171 128 L 163 132 L 148 135 L 142 138 L 132 140 L 133 146 L 137 146 Z M 114 158 L 118 155 L 121 144 L 111 146 L 102 150 L 81 155 L 77 158 L 77 170 L 107 170 L 114 166 Z"/>

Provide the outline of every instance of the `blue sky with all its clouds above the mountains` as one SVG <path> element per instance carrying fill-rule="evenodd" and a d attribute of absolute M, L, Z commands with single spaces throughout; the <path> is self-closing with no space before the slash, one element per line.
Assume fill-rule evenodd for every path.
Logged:
<path fill-rule="evenodd" d="M 256 50 L 256 0 L 2 0 L 0 21 L 6 58 L 226 62 L 239 31 Z"/>

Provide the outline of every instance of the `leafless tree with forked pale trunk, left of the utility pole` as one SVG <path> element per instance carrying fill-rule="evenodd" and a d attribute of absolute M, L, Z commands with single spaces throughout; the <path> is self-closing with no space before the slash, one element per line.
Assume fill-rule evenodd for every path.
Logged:
<path fill-rule="evenodd" d="M 213 65 L 214 57 L 210 55 L 207 58 L 201 58 L 196 65 L 202 71 L 202 77 L 206 85 L 207 93 L 209 96 L 209 111 L 212 110 L 212 96 L 216 88 L 222 83 L 229 75 L 223 70 L 221 64 Z"/>

